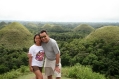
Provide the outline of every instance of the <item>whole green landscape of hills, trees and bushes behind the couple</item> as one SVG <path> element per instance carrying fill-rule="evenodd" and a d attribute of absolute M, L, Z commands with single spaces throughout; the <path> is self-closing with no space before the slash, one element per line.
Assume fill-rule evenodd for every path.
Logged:
<path fill-rule="evenodd" d="M 109 79 L 119 79 L 119 26 L 94 25 L 95 27 L 84 23 L 2 22 L 0 26 L 0 74 L 17 70 L 22 65 L 28 66 L 27 52 L 33 44 L 33 35 L 42 29 L 47 29 L 50 37 L 58 42 L 63 76 L 75 79 L 84 79 L 84 77 L 85 79 L 103 79 L 105 75 Z M 75 31 L 74 28 L 76 28 Z M 76 65 L 76 63 L 81 65 Z M 96 76 L 90 77 L 92 75 Z"/>

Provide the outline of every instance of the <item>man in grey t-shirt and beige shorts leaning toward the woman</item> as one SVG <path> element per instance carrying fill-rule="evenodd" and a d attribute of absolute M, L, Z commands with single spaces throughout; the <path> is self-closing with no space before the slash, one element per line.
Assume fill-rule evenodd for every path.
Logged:
<path fill-rule="evenodd" d="M 42 47 L 45 51 L 45 74 L 48 79 L 52 79 L 52 75 L 55 74 L 56 79 L 61 78 L 61 63 L 60 63 L 60 50 L 57 42 L 50 38 L 46 30 L 40 32 L 40 38 L 42 40 Z"/>

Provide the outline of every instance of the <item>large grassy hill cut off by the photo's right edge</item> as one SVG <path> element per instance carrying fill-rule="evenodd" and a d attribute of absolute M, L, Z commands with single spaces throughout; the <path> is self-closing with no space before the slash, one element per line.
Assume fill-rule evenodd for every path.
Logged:
<path fill-rule="evenodd" d="M 86 38 L 87 41 L 105 40 L 106 42 L 117 42 L 119 40 L 118 26 L 104 26 L 90 33 Z"/>

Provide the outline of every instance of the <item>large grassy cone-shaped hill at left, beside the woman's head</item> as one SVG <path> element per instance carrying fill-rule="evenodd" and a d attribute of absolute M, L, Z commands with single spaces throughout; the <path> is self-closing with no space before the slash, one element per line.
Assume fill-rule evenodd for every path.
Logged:
<path fill-rule="evenodd" d="M 6 49 L 28 48 L 33 44 L 33 34 L 18 22 L 13 22 L 0 30 L 0 46 Z"/>

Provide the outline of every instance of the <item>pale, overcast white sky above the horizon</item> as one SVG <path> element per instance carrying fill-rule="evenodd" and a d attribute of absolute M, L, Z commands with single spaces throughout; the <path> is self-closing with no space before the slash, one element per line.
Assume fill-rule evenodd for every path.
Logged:
<path fill-rule="evenodd" d="M 119 22 L 119 0 L 0 0 L 0 20 Z"/>

